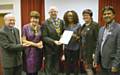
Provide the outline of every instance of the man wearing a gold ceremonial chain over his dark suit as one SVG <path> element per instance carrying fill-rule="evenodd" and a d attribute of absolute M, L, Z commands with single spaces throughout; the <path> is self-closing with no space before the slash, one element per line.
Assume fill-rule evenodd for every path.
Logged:
<path fill-rule="evenodd" d="M 58 75 L 58 63 L 60 50 L 59 42 L 63 32 L 63 21 L 57 18 L 58 9 L 51 6 L 49 9 L 50 18 L 44 23 L 43 40 L 45 44 L 45 73 L 46 75 Z"/>

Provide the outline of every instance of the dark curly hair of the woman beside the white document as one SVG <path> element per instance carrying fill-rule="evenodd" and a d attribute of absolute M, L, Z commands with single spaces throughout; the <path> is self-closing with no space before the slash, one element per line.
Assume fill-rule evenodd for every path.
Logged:
<path fill-rule="evenodd" d="M 68 14 L 69 12 L 71 12 L 71 13 L 73 14 L 74 24 L 79 23 L 79 18 L 78 18 L 78 15 L 77 15 L 77 13 L 76 13 L 74 10 L 70 10 L 70 11 L 65 12 L 64 17 L 63 17 L 63 18 L 64 18 L 65 23 L 66 23 L 66 24 L 68 24 L 67 14 Z"/>

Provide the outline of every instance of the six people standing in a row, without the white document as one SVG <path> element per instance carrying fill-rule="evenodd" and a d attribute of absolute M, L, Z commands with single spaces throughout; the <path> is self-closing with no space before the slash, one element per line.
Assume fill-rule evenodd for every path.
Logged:
<path fill-rule="evenodd" d="M 15 16 L 4 16 L 5 25 L 0 29 L 4 75 L 21 75 L 22 70 L 26 75 L 38 75 L 43 57 L 45 75 L 58 75 L 61 53 L 65 56 L 66 75 L 79 75 L 80 62 L 87 75 L 120 75 L 120 24 L 115 21 L 113 7 L 103 8 L 106 24 L 101 28 L 93 21 L 90 9 L 82 12 L 83 25 L 74 10 L 66 11 L 63 20 L 58 18 L 55 6 L 48 13 L 50 18 L 40 25 L 39 12 L 30 12 L 30 23 L 22 28 L 22 41 L 14 27 Z M 68 44 L 59 41 L 64 30 L 73 32 Z"/>

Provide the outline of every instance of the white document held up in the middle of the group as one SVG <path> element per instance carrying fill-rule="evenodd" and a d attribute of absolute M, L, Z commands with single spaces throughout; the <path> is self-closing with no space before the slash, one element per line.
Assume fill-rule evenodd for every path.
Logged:
<path fill-rule="evenodd" d="M 72 35 L 73 35 L 73 31 L 65 30 L 59 41 L 63 44 L 68 44 Z"/>

